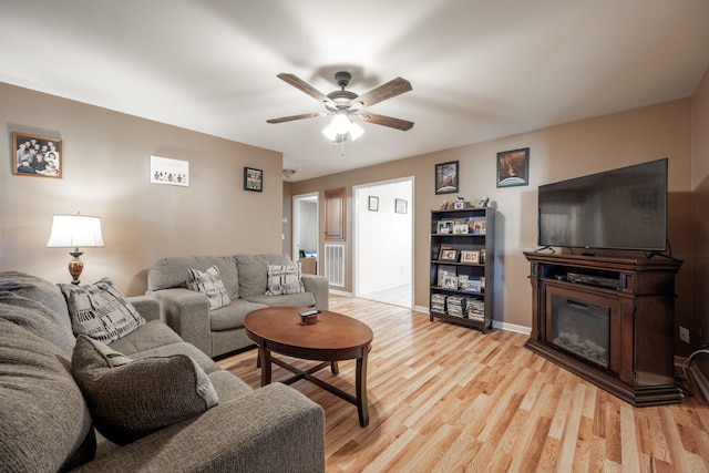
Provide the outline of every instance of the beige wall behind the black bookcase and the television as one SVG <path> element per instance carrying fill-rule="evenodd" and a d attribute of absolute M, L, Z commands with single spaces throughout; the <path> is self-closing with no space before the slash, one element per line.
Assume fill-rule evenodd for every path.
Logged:
<path fill-rule="evenodd" d="M 435 195 L 434 165 L 460 161 L 460 193 L 471 203 L 490 196 L 497 208 L 496 233 L 499 294 L 495 320 L 530 327 L 532 294 L 528 264 L 522 251 L 536 248 L 537 186 L 569 177 L 602 172 L 661 157 L 669 157 L 669 238 L 674 255 L 690 256 L 690 239 L 680 229 L 689 222 L 690 100 L 680 100 L 628 112 L 584 120 L 485 143 L 414 156 L 378 166 L 289 184 L 291 194 L 320 192 L 345 186 L 347 208 L 347 266 L 351 268 L 352 186 L 414 176 L 415 305 L 428 307 L 430 210 L 452 195 Z M 394 132 L 392 132 L 394 133 Z M 405 140 L 405 135 L 400 138 Z M 356 146 L 356 144 L 354 144 Z M 530 185 L 497 188 L 496 153 L 530 147 Z M 320 224 L 322 226 L 322 215 Z M 321 250 L 321 248 L 320 248 Z M 350 273 L 346 290 L 351 291 Z M 687 313 L 691 302 L 688 271 L 678 279 L 678 312 Z"/>

